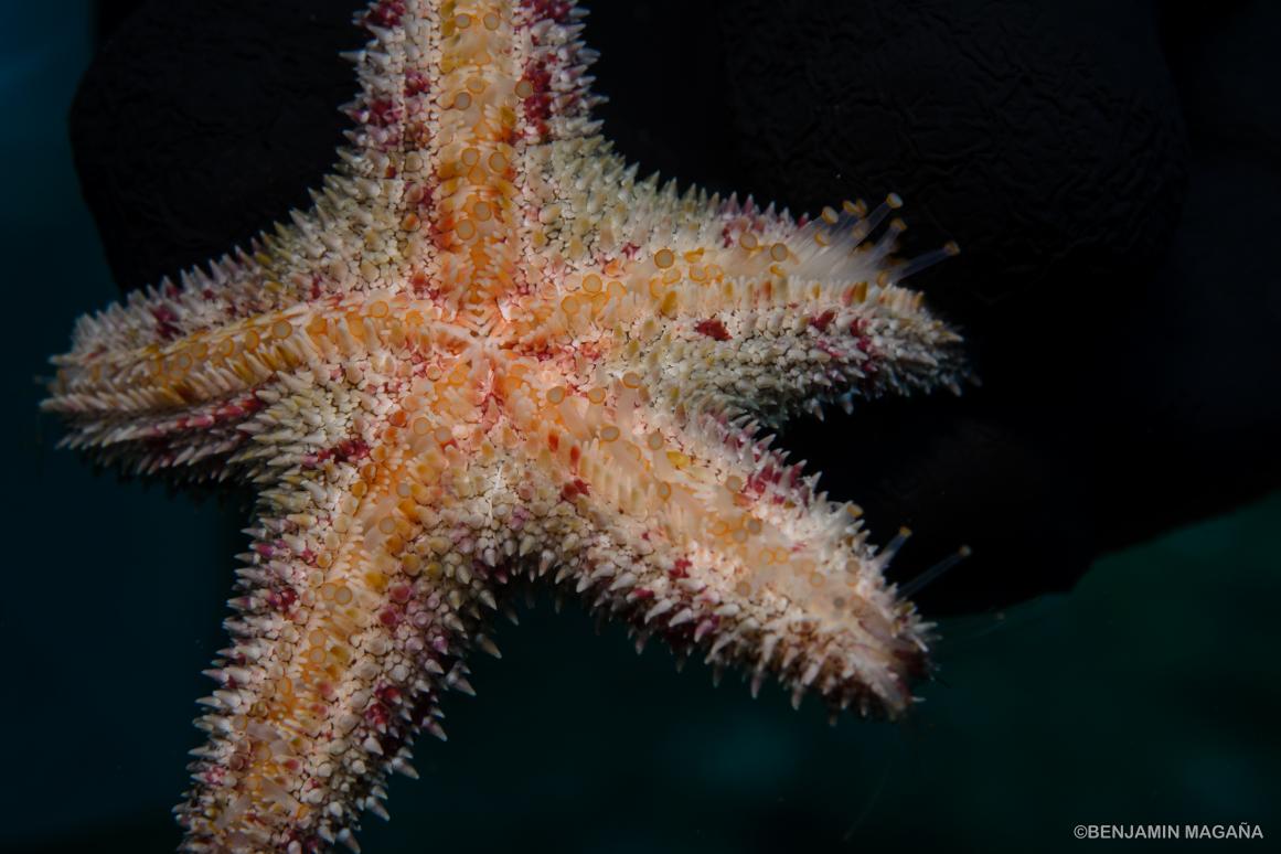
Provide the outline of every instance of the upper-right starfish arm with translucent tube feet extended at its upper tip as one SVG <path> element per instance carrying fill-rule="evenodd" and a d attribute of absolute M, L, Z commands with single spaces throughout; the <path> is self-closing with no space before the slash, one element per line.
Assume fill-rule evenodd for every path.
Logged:
<path fill-rule="evenodd" d="M 598 137 L 548 146 L 535 163 L 535 192 L 550 200 L 539 264 L 571 273 L 547 294 L 561 311 L 534 335 L 594 325 L 656 393 L 771 423 L 831 401 L 959 389 L 961 337 L 902 287 L 956 247 L 894 259 L 897 196 L 798 222 L 751 198 L 635 182 Z"/>

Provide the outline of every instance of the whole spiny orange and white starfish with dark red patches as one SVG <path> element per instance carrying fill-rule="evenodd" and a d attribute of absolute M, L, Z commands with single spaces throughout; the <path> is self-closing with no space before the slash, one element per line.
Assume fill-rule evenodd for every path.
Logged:
<path fill-rule="evenodd" d="M 926 625 L 761 425 L 956 388 L 899 200 L 812 222 L 635 181 L 569 0 L 379 0 L 337 174 L 249 251 L 83 318 L 45 408 L 259 488 L 177 808 L 192 851 L 355 848 L 487 615 L 551 575 L 680 654 L 895 714 Z M 871 238 L 872 233 L 879 236 Z"/>

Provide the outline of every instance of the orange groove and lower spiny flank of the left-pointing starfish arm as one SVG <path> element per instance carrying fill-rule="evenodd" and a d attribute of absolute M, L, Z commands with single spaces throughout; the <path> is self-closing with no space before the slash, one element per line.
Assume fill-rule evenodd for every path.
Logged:
<path fill-rule="evenodd" d="M 370 383 L 401 382 L 384 376 L 391 353 L 439 356 L 447 339 L 448 330 L 404 294 L 298 303 L 164 348 L 63 357 L 44 407 L 65 417 L 64 443 L 108 462 L 141 472 L 196 466 L 195 474 L 255 476 L 264 434 L 292 431 L 297 447 L 327 440 L 334 371 L 352 385 L 343 399 L 371 402 Z M 264 419 L 274 408 L 254 419 L 302 398 L 311 408 L 296 406 L 293 424 L 269 428 Z M 222 462 L 232 465 L 215 465 Z"/>

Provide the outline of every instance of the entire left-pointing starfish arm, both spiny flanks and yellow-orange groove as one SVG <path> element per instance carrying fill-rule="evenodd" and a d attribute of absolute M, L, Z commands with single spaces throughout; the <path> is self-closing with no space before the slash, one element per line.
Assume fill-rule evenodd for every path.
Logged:
<path fill-rule="evenodd" d="M 328 275 L 318 260 L 328 250 L 310 227 L 281 227 L 281 234 L 293 241 L 291 252 L 269 256 L 255 239 L 251 254 L 237 250 L 82 316 L 70 351 L 51 360 L 58 373 L 42 402 L 67 417 L 67 442 L 146 442 L 145 456 L 174 465 L 167 446 L 182 443 L 179 434 L 224 431 L 259 408 L 252 392 L 275 371 L 329 353 L 334 342 L 323 339 L 334 329 L 310 325 L 339 306 L 337 297 L 318 302 Z M 223 439 L 188 453 L 222 453 Z"/>

